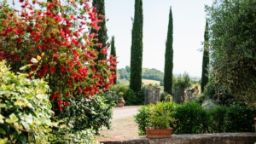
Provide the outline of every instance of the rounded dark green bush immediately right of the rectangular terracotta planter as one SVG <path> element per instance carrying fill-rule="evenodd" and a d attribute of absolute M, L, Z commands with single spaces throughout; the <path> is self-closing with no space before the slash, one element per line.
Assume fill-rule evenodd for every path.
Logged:
<path fill-rule="evenodd" d="M 176 108 L 173 117 L 178 119 L 175 134 L 201 134 L 207 132 L 207 111 L 200 104 L 186 102 Z"/>

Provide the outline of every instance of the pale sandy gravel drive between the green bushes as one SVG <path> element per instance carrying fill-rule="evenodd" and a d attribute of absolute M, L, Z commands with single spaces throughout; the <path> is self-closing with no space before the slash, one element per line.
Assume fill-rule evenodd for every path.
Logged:
<path fill-rule="evenodd" d="M 111 130 L 103 127 L 96 141 L 128 140 L 138 136 L 137 123 L 133 115 L 137 113 L 139 106 L 113 107 L 113 119 Z"/>

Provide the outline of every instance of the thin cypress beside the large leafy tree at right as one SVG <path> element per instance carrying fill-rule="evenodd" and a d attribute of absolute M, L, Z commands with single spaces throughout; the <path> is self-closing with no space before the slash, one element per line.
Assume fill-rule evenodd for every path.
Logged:
<path fill-rule="evenodd" d="M 208 83 L 208 66 L 209 66 L 209 28 L 208 21 L 205 29 L 205 41 L 204 41 L 204 53 L 202 59 L 202 68 L 201 68 L 201 92 L 204 91 L 204 87 Z"/>

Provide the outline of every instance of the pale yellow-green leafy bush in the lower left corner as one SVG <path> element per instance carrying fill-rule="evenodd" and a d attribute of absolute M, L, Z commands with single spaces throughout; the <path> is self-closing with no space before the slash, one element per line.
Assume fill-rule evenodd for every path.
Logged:
<path fill-rule="evenodd" d="M 47 143 L 51 126 L 49 86 L 9 72 L 0 62 L 0 138 L 6 143 Z"/>

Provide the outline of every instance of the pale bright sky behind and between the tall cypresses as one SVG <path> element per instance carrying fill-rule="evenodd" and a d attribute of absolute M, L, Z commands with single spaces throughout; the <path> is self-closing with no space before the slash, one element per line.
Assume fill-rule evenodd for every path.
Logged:
<path fill-rule="evenodd" d="M 108 39 L 115 37 L 118 68 L 130 66 L 131 17 L 135 0 L 105 0 Z M 167 26 L 172 6 L 173 73 L 189 72 L 201 77 L 201 61 L 206 25 L 205 4 L 212 0 L 143 0 L 143 68 L 164 72 Z"/>

